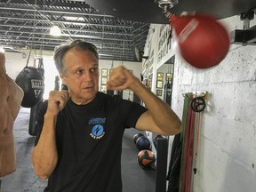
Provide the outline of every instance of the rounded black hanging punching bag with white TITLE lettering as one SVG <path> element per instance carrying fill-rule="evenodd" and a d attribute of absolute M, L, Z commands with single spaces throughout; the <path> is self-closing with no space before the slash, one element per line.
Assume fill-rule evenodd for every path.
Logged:
<path fill-rule="evenodd" d="M 43 98 L 44 94 L 44 68 L 25 67 L 16 77 L 15 83 L 24 92 L 21 106 L 24 108 L 34 107 Z"/>

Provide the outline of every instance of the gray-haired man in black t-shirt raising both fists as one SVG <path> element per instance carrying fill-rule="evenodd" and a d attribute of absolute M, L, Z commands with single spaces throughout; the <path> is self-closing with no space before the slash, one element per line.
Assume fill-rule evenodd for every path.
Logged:
<path fill-rule="evenodd" d="M 76 40 L 54 53 L 68 91 L 52 91 L 38 111 L 31 160 L 48 179 L 44 191 L 121 192 L 122 139 L 126 128 L 174 135 L 180 118 L 126 68 L 113 68 L 108 90 L 130 89 L 146 107 L 98 91 L 99 55 L 93 44 Z"/>

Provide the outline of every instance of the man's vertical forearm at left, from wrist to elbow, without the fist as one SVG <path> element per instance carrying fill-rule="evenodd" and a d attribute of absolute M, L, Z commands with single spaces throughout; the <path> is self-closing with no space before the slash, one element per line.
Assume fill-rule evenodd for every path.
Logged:
<path fill-rule="evenodd" d="M 44 115 L 44 127 L 40 139 L 32 152 L 32 163 L 36 174 L 43 180 L 54 171 L 58 154 L 55 141 L 55 124 L 57 116 Z"/>

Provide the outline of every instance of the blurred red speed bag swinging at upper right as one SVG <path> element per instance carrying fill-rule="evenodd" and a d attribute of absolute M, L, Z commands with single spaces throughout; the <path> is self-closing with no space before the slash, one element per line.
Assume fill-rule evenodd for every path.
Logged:
<path fill-rule="evenodd" d="M 173 38 L 180 55 L 196 68 L 211 68 L 225 58 L 229 48 L 226 28 L 212 17 L 196 14 L 171 16 Z"/>

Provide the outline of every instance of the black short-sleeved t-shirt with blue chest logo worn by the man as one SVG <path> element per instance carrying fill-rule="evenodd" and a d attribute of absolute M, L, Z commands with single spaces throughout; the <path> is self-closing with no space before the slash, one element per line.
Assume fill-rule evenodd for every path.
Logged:
<path fill-rule="evenodd" d="M 36 143 L 47 101 L 38 111 Z M 98 92 L 86 105 L 68 100 L 56 124 L 58 163 L 48 180 L 51 192 L 121 192 L 121 152 L 125 128 L 147 109 L 119 96 Z"/>

